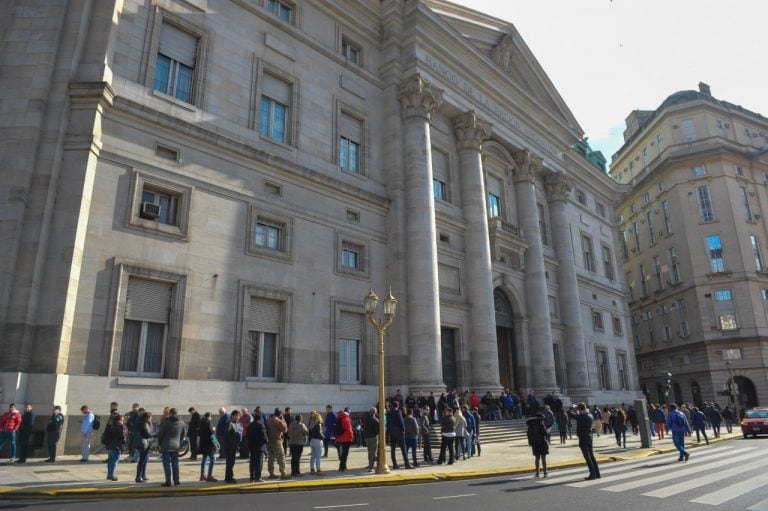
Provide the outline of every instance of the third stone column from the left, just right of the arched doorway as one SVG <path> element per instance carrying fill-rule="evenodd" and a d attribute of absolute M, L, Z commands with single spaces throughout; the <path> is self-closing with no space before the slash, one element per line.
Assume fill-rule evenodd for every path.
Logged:
<path fill-rule="evenodd" d="M 552 325 L 549 317 L 544 249 L 539 227 L 539 208 L 534 183 L 541 171 L 541 161 L 527 149 L 513 155 L 514 180 L 520 226 L 528 242 L 525 252 L 525 303 L 529 322 L 528 344 L 531 353 L 533 387 L 538 394 L 557 391 Z"/>

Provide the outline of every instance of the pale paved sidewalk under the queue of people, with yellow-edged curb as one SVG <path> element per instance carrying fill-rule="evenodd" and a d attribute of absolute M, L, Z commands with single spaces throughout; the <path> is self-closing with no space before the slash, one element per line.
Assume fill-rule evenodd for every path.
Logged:
<path fill-rule="evenodd" d="M 710 443 L 740 438 L 741 433 L 724 433 L 719 439 L 710 438 Z M 695 438 L 695 437 L 694 437 Z M 584 465 L 578 440 L 574 435 L 565 445 L 559 443 L 559 437 L 553 436 L 553 444 L 547 456 L 550 470 Z M 658 441 L 654 437 L 653 447 L 641 448 L 640 435 L 627 435 L 627 448 L 618 447 L 613 435 L 594 437 L 595 455 L 599 463 L 643 458 L 655 454 L 670 453 L 676 457 L 671 437 L 665 436 Z M 439 446 L 438 446 L 439 447 Z M 692 442 L 686 438 L 686 449 L 706 448 L 704 442 Z M 389 455 L 389 449 L 387 450 Z M 438 449 L 433 448 L 433 457 L 437 459 Z M 694 454 L 695 456 L 695 454 Z M 329 449 L 327 459 L 322 460 L 322 476 L 309 475 L 309 449 L 302 455 L 302 477 L 290 480 L 267 480 L 264 483 L 248 482 L 248 460 L 238 459 L 235 464 L 237 484 L 223 482 L 198 482 L 200 463 L 182 458 L 180 461 L 181 485 L 171 488 L 160 487 L 163 482 L 163 468 L 159 458 L 152 457 L 147 467 L 149 481 L 143 484 L 133 482 L 136 464 L 121 461 L 117 467 L 117 482 L 106 481 L 106 464 L 102 460 L 106 455 L 92 455 L 90 463 L 79 463 L 80 456 L 61 456 L 56 463 L 44 463 L 42 458 L 30 459 L 25 464 L 5 461 L 0 465 L 0 500 L 12 499 L 105 499 L 115 497 L 156 497 L 170 495 L 214 495 L 223 493 L 259 493 L 276 491 L 299 491 L 309 489 L 330 489 L 360 486 L 383 486 L 409 483 L 423 483 L 439 480 L 454 480 L 499 475 L 523 474 L 534 470 L 530 447 L 524 440 L 494 443 L 482 446 L 482 455 L 453 465 L 420 465 L 413 470 L 393 470 L 387 475 L 369 474 L 366 470 L 368 455 L 365 447 L 350 449 L 347 465 L 350 469 L 342 474 L 338 472 L 338 458 L 335 449 Z M 419 451 L 421 458 L 421 451 Z M 387 460 L 390 463 L 389 459 Z M 403 466 L 398 452 L 398 463 Z M 289 461 L 286 460 L 290 471 Z M 224 479 L 224 463 L 217 460 L 214 476 Z M 586 467 L 585 467 L 586 474 Z M 267 462 L 264 461 L 266 478 Z"/>

